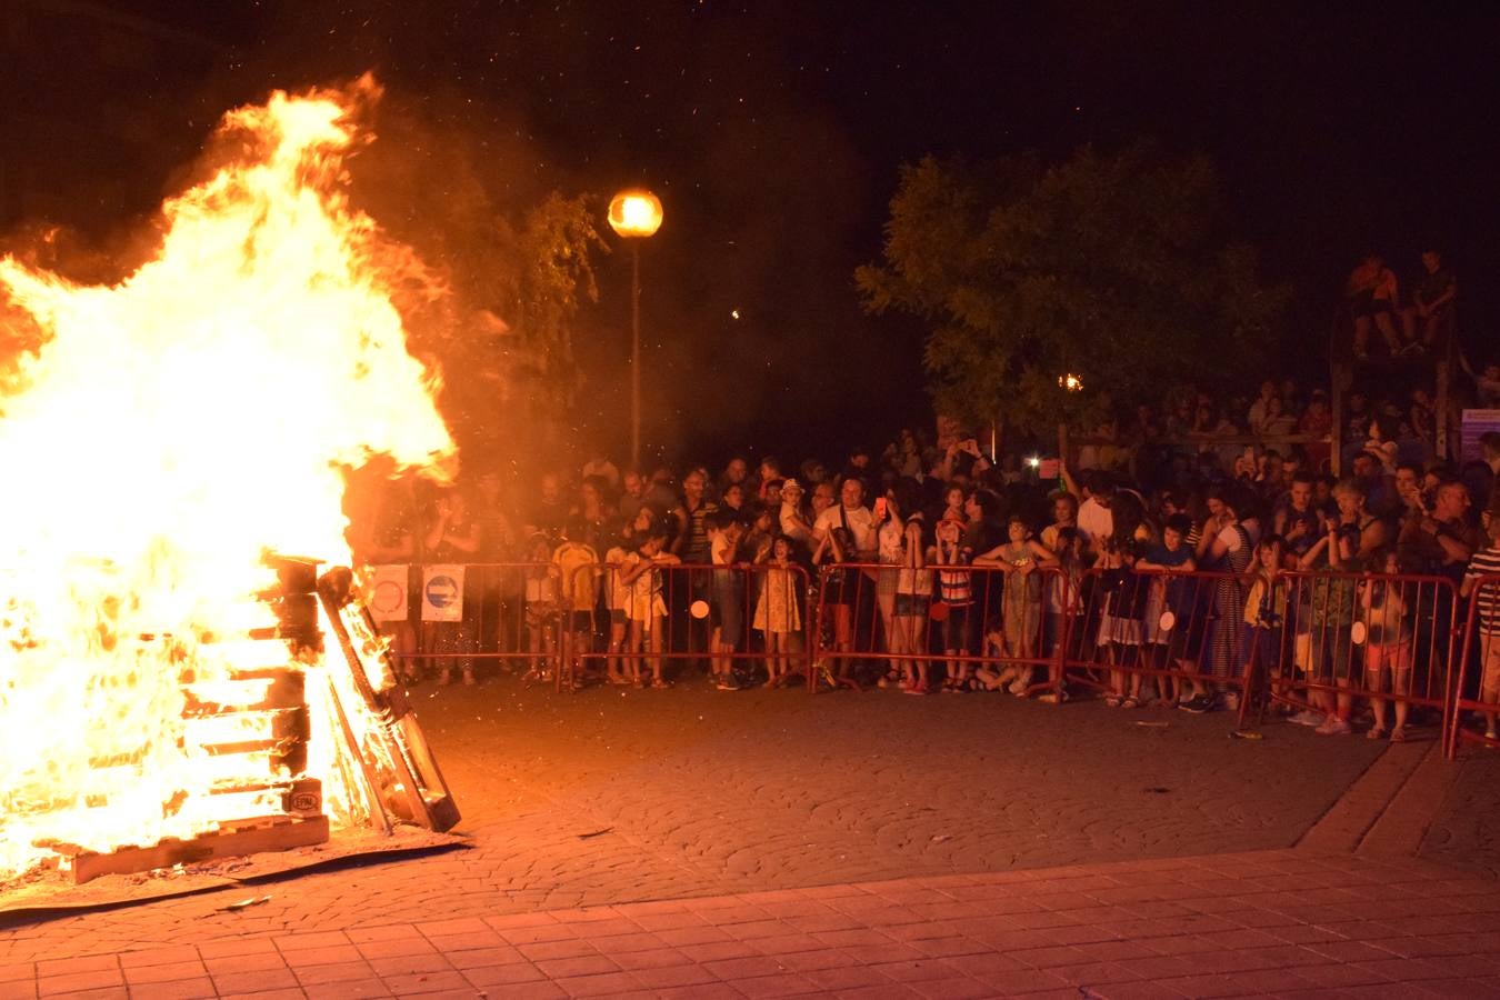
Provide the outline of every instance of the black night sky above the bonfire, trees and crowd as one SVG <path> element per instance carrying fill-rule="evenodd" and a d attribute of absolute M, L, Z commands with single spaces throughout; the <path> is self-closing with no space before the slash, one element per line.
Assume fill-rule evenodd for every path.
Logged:
<path fill-rule="evenodd" d="M 0 0 L 0 16 L 21 18 L 4 25 L 20 69 L 0 105 L 4 225 L 118 238 L 225 108 L 372 69 L 400 121 L 378 132 L 412 163 L 382 201 L 420 189 L 406 217 L 381 220 L 428 252 L 442 246 L 423 238 L 441 228 L 430 205 L 450 189 L 496 205 L 630 183 L 662 196 L 642 258 L 646 430 L 678 453 L 836 457 L 930 424 L 921 328 L 864 316 L 852 283 L 879 255 L 897 166 L 927 151 L 1062 157 L 1138 136 L 1206 151 L 1239 234 L 1294 288 L 1288 351 L 1326 342 L 1368 247 L 1407 277 L 1428 244 L 1460 276 L 1467 340 L 1488 343 L 1500 13 L 1210 6 Z M 150 61 L 99 67 L 69 57 L 80 10 L 182 36 Z M 598 268 L 602 301 L 579 331 L 596 402 L 580 420 L 618 433 L 628 258 Z"/>

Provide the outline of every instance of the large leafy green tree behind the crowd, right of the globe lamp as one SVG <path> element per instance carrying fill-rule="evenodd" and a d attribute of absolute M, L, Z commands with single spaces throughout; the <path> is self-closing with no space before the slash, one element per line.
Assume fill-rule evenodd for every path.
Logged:
<path fill-rule="evenodd" d="M 884 261 L 855 271 L 866 310 L 928 324 L 939 412 L 1041 430 L 1112 402 L 1236 373 L 1263 354 L 1286 292 L 1224 238 L 1204 157 L 1137 144 L 986 166 L 903 166 Z M 1084 391 L 1058 385 L 1064 372 Z"/>

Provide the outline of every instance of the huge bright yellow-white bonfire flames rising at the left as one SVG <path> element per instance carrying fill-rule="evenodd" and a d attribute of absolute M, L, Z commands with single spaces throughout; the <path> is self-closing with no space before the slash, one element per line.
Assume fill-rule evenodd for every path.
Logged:
<path fill-rule="evenodd" d="M 228 114 L 230 160 L 166 201 L 159 250 L 116 285 L 0 259 L 0 324 L 28 345 L 0 397 L 0 877 L 58 844 L 284 808 L 226 795 L 254 787 L 232 772 L 246 757 L 213 753 L 232 735 L 184 705 L 266 658 L 236 637 L 276 625 L 256 600 L 268 552 L 348 564 L 348 469 L 453 456 L 396 307 L 410 250 L 346 196 L 372 90 Z M 306 772 L 338 822 L 357 795 L 320 690 Z"/>

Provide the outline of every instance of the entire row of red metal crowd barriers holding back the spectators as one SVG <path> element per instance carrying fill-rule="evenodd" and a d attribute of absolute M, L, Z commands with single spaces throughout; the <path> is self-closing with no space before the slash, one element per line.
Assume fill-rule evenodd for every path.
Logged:
<path fill-rule="evenodd" d="M 630 580 L 630 565 L 582 564 L 564 580 L 552 562 L 468 564 L 448 594 L 462 613 L 441 622 L 423 621 L 423 567 L 406 567 L 405 616 L 381 631 L 408 678 L 520 664 L 560 690 L 590 669 L 651 682 L 668 663 L 742 676 L 770 658 L 772 682 L 808 691 L 858 688 L 861 667 L 1056 702 L 1204 688 L 1236 694 L 1240 724 L 1272 706 L 1348 720 L 1368 703 L 1383 729 L 1437 714 L 1449 757 L 1484 742 L 1466 715 L 1500 715 L 1500 576 L 1478 582 L 1466 612 L 1446 577 L 1286 571 L 1246 612 L 1254 580 L 1228 573 L 663 561 Z M 380 621 L 378 595 L 366 600 Z"/>

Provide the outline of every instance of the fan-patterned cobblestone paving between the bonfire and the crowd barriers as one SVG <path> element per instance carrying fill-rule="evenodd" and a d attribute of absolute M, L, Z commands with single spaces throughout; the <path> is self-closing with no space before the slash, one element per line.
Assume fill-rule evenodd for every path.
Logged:
<path fill-rule="evenodd" d="M 0 963 L 1288 847 L 1380 753 L 1005 696 L 422 688 L 474 847 L 0 931 Z M 1137 726 L 1137 723 L 1166 726 Z M 603 832 L 602 832 L 603 831 Z M 580 838 L 584 834 L 596 837 Z"/>

